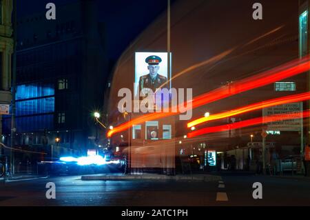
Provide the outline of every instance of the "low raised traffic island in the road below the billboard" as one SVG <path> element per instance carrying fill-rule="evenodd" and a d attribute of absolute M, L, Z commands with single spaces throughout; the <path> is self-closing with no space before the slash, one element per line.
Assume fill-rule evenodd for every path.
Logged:
<path fill-rule="evenodd" d="M 152 180 L 175 180 L 175 181 L 219 181 L 220 176 L 209 174 L 187 174 L 167 176 L 163 174 L 93 174 L 83 175 L 82 180 L 138 180 L 138 179 L 152 179 Z"/>

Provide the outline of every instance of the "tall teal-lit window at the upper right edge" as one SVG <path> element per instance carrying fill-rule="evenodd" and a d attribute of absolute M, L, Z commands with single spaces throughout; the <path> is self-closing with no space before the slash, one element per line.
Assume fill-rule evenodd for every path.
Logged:
<path fill-rule="evenodd" d="M 307 21 L 308 10 L 305 10 L 299 16 L 299 56 L 304 57 L 307 54 Z"/>

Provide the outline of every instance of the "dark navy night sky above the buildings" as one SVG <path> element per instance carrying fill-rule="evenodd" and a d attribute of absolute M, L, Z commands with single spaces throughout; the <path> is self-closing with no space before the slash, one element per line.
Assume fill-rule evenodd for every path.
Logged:
<path fill-rule="evenodd" d="M 45 11 L 45 5 L 53 2 L 57 5 L 76 0 L 17 0 L 17 17 Z M 83 0 L 87 1 L 87 0 Z M 99 10 L 99 21 L 107 27 L 107 57 L 115 62 L 123 50 L 134 41 L 149 23 L 165 12 L 167 1 L 145 0 L 96 0 Z"/>

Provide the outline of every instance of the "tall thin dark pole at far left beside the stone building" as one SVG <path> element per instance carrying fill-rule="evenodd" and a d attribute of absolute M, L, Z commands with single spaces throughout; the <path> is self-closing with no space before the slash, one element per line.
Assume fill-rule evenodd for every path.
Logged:
<path fill-rule="evenodd" d="M 13 47 L 14 52 L 12 56 L 12 119 L 11 119 L 11 149 L 10 149 L 10 173 L 14 174 L 14 154 L 12 148 L 14 147 L 15 134 L 15 93 L 16 93 L 16 52 L 17 52 L 17 0 L 13 0 Z"/>

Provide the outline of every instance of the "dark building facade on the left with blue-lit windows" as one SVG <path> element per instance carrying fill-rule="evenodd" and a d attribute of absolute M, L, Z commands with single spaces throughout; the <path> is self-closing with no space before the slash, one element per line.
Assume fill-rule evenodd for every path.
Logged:
<path fill-rule="evenodd" d="M 56 20 L 18 18 L 15 146 L 61 157 L 100 145 L 93 112 L 102 111 L 106 59 L 96 10 L 76 1 L 56 6 Z M 10 124 L 3 119 L 8 144 Z"/>

